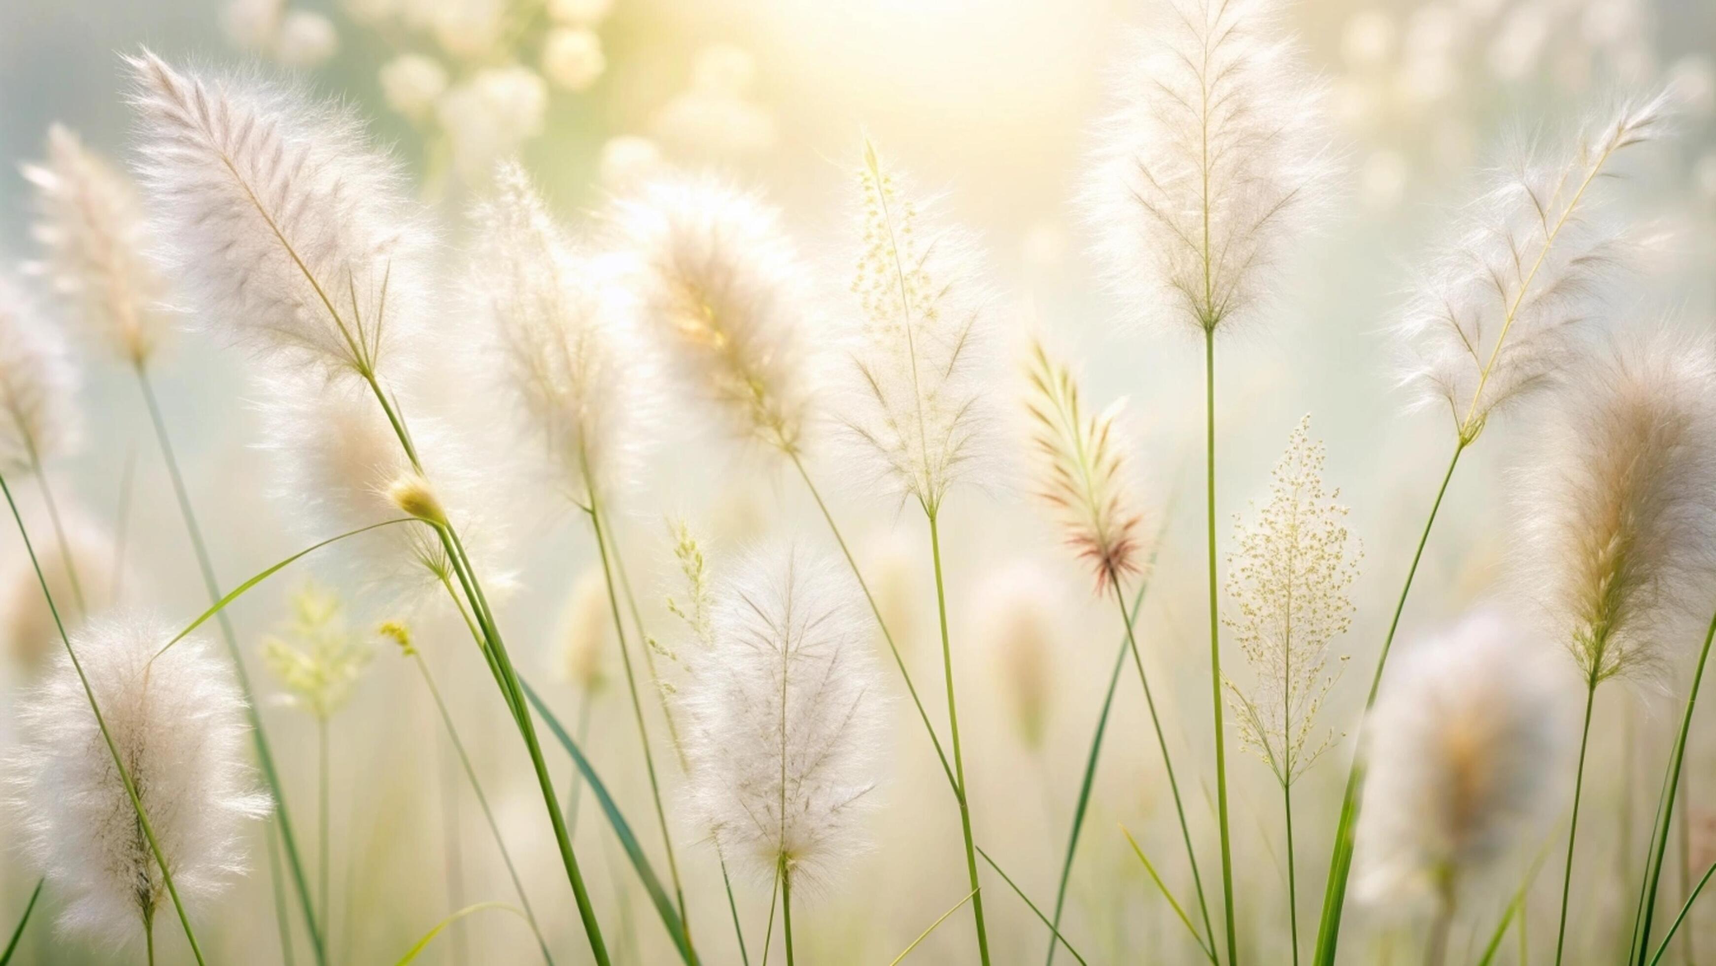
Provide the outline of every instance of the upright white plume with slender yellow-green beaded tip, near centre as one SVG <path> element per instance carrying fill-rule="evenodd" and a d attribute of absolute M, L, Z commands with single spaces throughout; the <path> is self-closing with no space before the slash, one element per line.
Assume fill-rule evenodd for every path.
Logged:
<path fill-rule="evenodd" d="M 853 293 L 865 319 L 843 419 L 853 462 L 934 515 L 987 458 L 987 297 L 971 244 L 920 221 L 918 201 L 868 141 L 858 182 L 863 251 Z"/>

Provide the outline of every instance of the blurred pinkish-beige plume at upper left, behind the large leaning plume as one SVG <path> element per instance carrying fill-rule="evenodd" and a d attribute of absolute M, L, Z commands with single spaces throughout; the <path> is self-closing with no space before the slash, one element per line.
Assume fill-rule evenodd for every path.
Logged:
<path fill-rule="evenodd" d="M 76 309 L 91 336 L 142 365 L 161 343 L 168 312 L 136 185 L 60 124 L 48 129 L 48 158 L 24 165 L 24 177 L 36 187 L 31 233 L 43 247 L 31 271 Z"/>

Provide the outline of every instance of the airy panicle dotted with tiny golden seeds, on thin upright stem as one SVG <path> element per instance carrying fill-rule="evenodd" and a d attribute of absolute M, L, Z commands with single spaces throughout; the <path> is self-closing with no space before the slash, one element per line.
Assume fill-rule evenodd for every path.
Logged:
<path fill-rule="evenodd" d="M 1316 712 L 1345 657 L 1328 667 L 1328 645 L 1352 625 L 1352 580 L 1363 547 L 1347 534 L 1340 491 L 1323 489 L 1323 444 L 1311 417 L 1294 427 L 1272 472 L 1270 499 L 1256 520 L 1236 522 L 1237 549 L 1227 559 L 1227 595 L 1237 606 L 1224 623 L 1251 666 L 1249 690 L 1227 681 L 1246 748 L 1282 784 L 1292 784 L 1335 736 L 1314 738 Z"/>

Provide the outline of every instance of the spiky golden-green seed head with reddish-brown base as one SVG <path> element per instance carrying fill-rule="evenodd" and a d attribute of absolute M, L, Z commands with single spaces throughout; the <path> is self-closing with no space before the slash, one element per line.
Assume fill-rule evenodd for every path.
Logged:
<path fill-rule="evenodd" d="M 1133 506 L 1126 443 L 1115 429 L 1124 400 L 1086 414 L 1072 371 L 1035 340 L 1024 376 L 1036 492 L 1060 518 L 1067 546 L 1097 570 L 1097 590 L 1119 592 L 1143 566 L 1143 515 Z"/>

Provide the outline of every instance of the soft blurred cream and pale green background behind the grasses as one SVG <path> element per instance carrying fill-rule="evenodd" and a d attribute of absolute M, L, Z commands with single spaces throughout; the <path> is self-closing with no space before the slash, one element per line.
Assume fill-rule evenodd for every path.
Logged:
<path fill-rule="evenodd" d="M 1306 58 L 1328 84 L 1345 161 L 1342 199 L 1325 232 L 1294 254 L 1273 317 L 1234 333 L 1224 348 L 1218 499 L 1225 516 L 1261 498 L 1289 431 L 1311 414 L 1313 436 L 1328 444 L 1326 479 L 1352 508 L 1349 523 L 1364 544 L 1357 616 L 1335 643 L 1363 673 L 1340 681 L 1323 712 L 1328 726 L 1350 731 L 1453 444 L 1443 414 L 1407 412 L 1395 386 L 1388 328 L 1414 268 L 1507 144 L 1565 132 L 1615 93 L 1675 84 L 1689 105 L 1675 137 L 1630 160 L 1628 178 L 1616 190 L 1618 204 L 1658 223 L 1670 242 L 1659 264 L 1615 302 L 1615 323 L 1673 316 L 1677 324 L 1707 331 L 1716 319 L 1716 5 L 1304 0 L 1289 17 Z M 511 153 L 522 154 L 571 225 L 583 223 L 609 194 L 664 166 L 724 172 L 782 209 L 817 269 L 819 309 L 829 317 L 856 312 L 846 292 L 858 237 L 855 168 L 861 137 L 870 136 L 916 184 L 940 194 L 946 216 L 978 232 L 997 312 L 1040 328 L 1081 360 L 1093 401 L 1129 398 L 1139 486 L 1163 527 L 1141 643 L 1162 681 L 1157 693 L 1170 741 L 1181 748 L 1175 757 L 1191 776 L 1182 781 L 1203 789 L 1191 793 L 1193 829 L 1213 870 L 1201 511 L 1198 499 L 1175 501 L 1175 492 L 1201 487 L 1198 350 L 1179 333 L 1124 324 L 1124 307 L 1095 278 L 1090 238 L 1071 204 L 1112 67 L 1141 21 L 1139 3 L 1103 0 L 9 0 L 0 5 L 0 256 L 10 263 L 34 254 L 29 190 L 17 165 L 43 156 L 51 122 L 72 127 L 110 156 L 127 156 L 132 118 L 118 53 L 139 45 L 172 60 L 256 62 L 261 70 L 295 72 L 316 91 L 357 105 L 374 134 L 419 175 L 424 201 L 444 216 L 450 252 L 456 252 L 463 211 L 482 172 Z M 456 319 L 441 338 L 450 353 L 458 352 Z M 55 482 L 76 515 L 106 530 L 124 520 L 137 575 L 124 594 L 158 604 L 175 621 L 189 619 L 206 601 L 148 417 L 129 372 L 100 353 L 88 355 L 81 398 L 86 441 L 76 458 L 55 468 Z M 166 420 L 228 587 L 304 546 L 300 530 L 264 499 L 268 465 L 256 448 L 247 367 L 240 353 L 196 331 L 175 338 L 158 367 Z M 1011 405 L 1016 384 L 1002 383 L 995 391 Z M 479 429 L 489 415 L 470 400 L 441 403 Z M 1529 424 L 1500 420 L 1469 456 L 1426 549 L 1402 647 L 1505 583 L 1503 480 L 1524 434 Z M 762 456 L 710 441 L 697 427 L 674 427 L 652 455 L 642 492 L 626 499 L 619 540 L 645 621 L 664 638 L 678 630 L 664 606 L 664 595 L 676 590 L 669 516 L 683 516 L 710 537 L 717 573 L 724 559 L 769 534 L 832 552 L 803 487 Z M 832 486 L 832 467 L 820 475 L 916 679 L 928 683 L 920 686 L 939 686 L 921 518 L 841 492 Z M 127 477 L 129 499 L 122 499 Z M 24 510 L 27 518 L 41 518 L 34 492 L 24 494 Z M 570 638 L 607 633 L 602 621 L 589 619 L 590 594 L 577 592 L 592 573 L 587 528 L 582 518 L 547 508 L 518 506 L 513 516 L 508 565 L 517 589 L 501 623 L 517 628 L 508 637 L 527 673 L 554 681 L 546 697 L 563 719 L 575 721 L 590 702 L 592 758 L 633 825 L 649 827 L 631 710 L 623 690 L 613 686 L 613 642 L 601 647 L 609 686 L 587 690 L 563 674 L 565 652 L 577 647 Z M 21 546 L 10 528 L 0 530 L 0 578 L 9 582 L 0 587 L 3 633 L 15 642 L 38 633 L 41 625 L 31 621 L 41 616 L 29 597 L 33 585 L 22 582 Z M 958 492 L 944 532 L 952 547 L 951 621 L 976 832 L 1028 894 L 1052 903 L 1121 628 L 1011 477 Z M 1222 527 L 1222 539 L 1230 540 L 1229 527 Z M 312 577 L 343 601 L 353 635 L 367 638 L 378 621 L 395 616 L 341 585 L 338 571 L 314 563 L 273 578 L 232 609 L 259 700 L 278 691 L 261 667 L 261 642 L 287 626 L 290 597 Z M 578 921 L 541 801 L 482 664 L 444 614 L 417 614 L 415 626 L 479 758 L 556 956 L 578 963 L 585 954 Z M 1237 655 L 1230 661 L 1237 664 Z M 9 674 L 0 678 L 5 745 L 10 703 L 26 681 L 19 673 L 0 674 Z M 897 685 L 891 667 L 887 674 Z M 1184 707 L 1182 695 L 1189 695 Z M 1160 856 L 1158 866 L 1175 889 L 1186 887 L 1172 805 L 1139 698 L 1136 681 L 1122 679 L 1066 932 L 1091 961 L 1191 963 L 1196 951 L 1117 827 L 1126 825 Z M 934 702 L 930 712 L 940 721 Z M 287 788 L 312 788 L 311 719 L 278 703 L 263 714 Z M 798 952 L 807 963 L 887 963 L 966 892 L 956 813 L 947 808 L 934 753 L 909 703 L 899 702 L 894 719 L 892 767 L 870 822 L 873 848 L 839 887 L 807 897 L 796 911 Z M 1628 870 L 1635 866 L 1628 863 L 1642 854 L 1642 830 L 1640 822 L 1632 822 L 1630 836 L 1620 829 L 1628 815 L 1649 815 L 1651 803 L 1642 796 L 1634 801 L 1625 789 L 1639 782 L 1622 776 L 1627 769 L 1659 774 L 1675 721 L 1663 695 L 1599 691 L 1592 755 L 1596 774 L 1613 781 L 1591 784 L 1587 794 L 1582 866 L 1589 878 L 1575 882 L 1584 891 L 1575 901 L 1592 915 L 1572 927 L 1579 949 L 1616 949 L 1627 939 L 1615 930 L 1627 921 L 1620 906 L 1630 891 L 1613 889 L 1611 880 L 1625 875 L 1622 880 L 1632 882 Z M 659 719 L 652 726 L 659 736 Z M 480 813 L 450 770 L 434 707 L 396 650 L 376 645 L 333 728 L 331 930 L 338 963 L 393 961 L 451 908 L 511 897 Z M 1716 858 L 1713 728 L 1704 715 L 1689 753 L 1687 836 L 1695 868 Z M 1625 746 L 1642 752 L 1628 755 Z M 1314 921 L 1349 755 L 1350 741 L 1296 788 L 1306 817 L 1297 830 L 1301 896 L 1313 897 L 1301 911 L 1302 925 Z M 1242 856 L 1239 889 L 1248 897 L 1244 928 L 1260 952 L 1254 961 L 1280 963 L 1285 891 L 1277 791 L 1253 758 L 1236 753 L 1229 760 L 1239 803 L 1234 827 Z M 561 758 L 556 767 L 565 767 Z M 565 781 L 570 784 L 570 772 Z M 293 808 L 297 822 L 312 827 L 307 791 Z M 688 856 L 681 863 L 688 866 L 693 933 L 726 939 L 728 913 L 710 851 L 698 846 L 693 829 L 676 832 Z M 5 836 L 0 824 L 0 844 Z M 589 856 L 595 904 L 619 959 L 668 961 L 671 947 L 647 897 L 589 805 L 577 841 Z M 211 961 L 280 957 L 263 848 L 264 836 L 256 832 L 252 873 L 206 916 Z M 645 837 L 645 848 L 659 851 L 659 842 Z M 0 921 L 12 923 L 34 872 L 19 868 L 14 851 L 0 854 Z M 1553 927 L 1558 897 L 1548 878 L 1532 892 L 1531 921 L 1543 933 Z M 767 889 L 767 882 L 736 884 L 740 913 L 758 935 Z M 997 961 L 1040 957 L 1045 935 L 1030 911 L 999 889 L 985 889 L 985 897 Z M 53 896 L 45 903 L 51 913 Z M 971 961 L 963 916 L 949 920 L 915 957 Z M 1349 916 L 1344 961 L 1350 963 L 1385 961 L 1393 937 L 1409 937 L 1414 928 L 1387 911 L 1354 909 Z M 1467 949 L 1471 935 L 1486 935 L 1491 921 L 1488 909 L 1462 918 L 1455 952 Z M 139 959 L 136 951 L 58 940 L 46 925 L 31 925 L 21 963 Z M 189 961 L 182 939 L 160 932 L 163 961 Z M 1692 949 L 1704 947 L 1716 959 L 1716 913 L 1695 915 L 1690 937 Z M 728 961 L 731 944 L 707 945 L 709 961 Z M 1397 956 L 1409 961 L 1414 945 L 1399 945 Z M 424 961 L 523 963 L 532 951 L 522 923 L 479 915 L 438 939 Z M 1502 961 L 1514 956 L 1510 949 Z"/>

